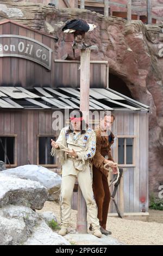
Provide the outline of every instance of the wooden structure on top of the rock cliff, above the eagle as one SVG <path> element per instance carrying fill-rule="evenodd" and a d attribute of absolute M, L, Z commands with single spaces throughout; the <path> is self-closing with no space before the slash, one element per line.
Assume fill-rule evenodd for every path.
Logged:
<path fill-rule="evenodd" d="M 128 0 L 18 0 L 18 2 L 33 2 L 33 3 L 43 3 L 43 4 L 54 4 L 56 8 L 80 8 L 82 7 L 81 2 L 84 5 L 84 8 L 91 11 L 96 11 L 96 13 L 103 14 L 105 16 L 116 16 L 122 17 L 123 19 L 131 20 L 141 20 L 143 23 L 149 23 L 147 16 L 150 16 L 150 23 L 156 23 L 157 20 L 162 21 L 161 15 L 155 15 L 156 9 L 159 7 L 153 7 L 150 5 L 147 8 L 147 3 L 151 3 L 151 0 L 148 0 L 144 5 L 139 1 L 132 3 Z M 130 2 L 130 5 L 128 3 Z M 147 15 L 148 9 L 148 15 Z M 161 9 L 161 8 L 160 8 Z"/>

